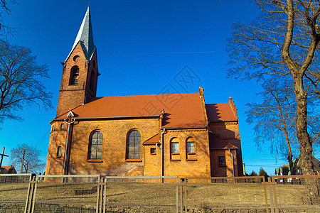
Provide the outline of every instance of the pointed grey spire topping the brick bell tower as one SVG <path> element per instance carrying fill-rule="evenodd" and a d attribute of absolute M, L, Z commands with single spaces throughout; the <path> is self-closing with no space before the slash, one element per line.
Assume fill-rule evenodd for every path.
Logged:
<path fill-rule="evenodd" d="M 95 52 L 95 45 L 93 44 L 93 35 L 92 35 L 92 25 L 91 25 L 91 16 L 90 16 L 90 6 L 87 6 L 87 11 L 85 12 L 85 17 L 81 23 L 77 37 L 75 38 L 75 43 L 73 43 L 73 48 L 71 49 L 68 57 L 65 61 L 68 60 L 70 54 L 75 49 L 75 46 L 80 42 L 83 53 L 85 53 L 85 58 L 90 60 L 93 53 Z"/>

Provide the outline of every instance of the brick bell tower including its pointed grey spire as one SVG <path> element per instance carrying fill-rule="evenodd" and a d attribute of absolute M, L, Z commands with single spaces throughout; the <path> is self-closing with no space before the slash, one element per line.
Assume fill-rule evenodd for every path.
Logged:
<path fill-rule="evenodd" d="M 63 65 L 56 116 L 85 104 L 97 93 L 97 49 L 93 43 L 90 6 Z"/>

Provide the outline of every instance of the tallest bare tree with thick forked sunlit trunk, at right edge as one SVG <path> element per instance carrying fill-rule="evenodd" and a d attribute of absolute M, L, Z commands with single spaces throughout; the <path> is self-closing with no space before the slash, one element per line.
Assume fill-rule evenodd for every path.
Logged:
<path fill-rule="evenodd" d="M 319 1 L 257 0 L 262 11 L 252 23 L 233 26 L 228 40 L 228 76 L 291 76 L 297 101 L 297 138 L 304 174 L 314 174 L 312 141 L 307 131 L 307 94 L 319 98 Z M 310 84 L 306 87 L 305 80 Z M 272 77 L 270 77 L 272 78 Z"/>

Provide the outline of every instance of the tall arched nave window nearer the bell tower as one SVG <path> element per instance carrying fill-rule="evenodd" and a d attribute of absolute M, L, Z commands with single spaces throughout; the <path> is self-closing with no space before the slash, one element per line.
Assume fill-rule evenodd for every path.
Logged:
<path fill-rule="evenodd" d="M 102 139 L 101 131 L 94 131 L 90 136 L 89 159 L 102 159 Z"/>

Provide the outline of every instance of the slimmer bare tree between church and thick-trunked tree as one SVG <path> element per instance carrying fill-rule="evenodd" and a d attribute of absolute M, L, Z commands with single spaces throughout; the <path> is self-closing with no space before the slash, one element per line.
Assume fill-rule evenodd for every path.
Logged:
<path fill-rule="evenodd" d="M 293 171 L 293 158 L 299 155 L 297 146 L 294 88 L 289 80 L 265 80 L 262 83 L 262 103 L 247 104 L 247 122 L 255 123 L 255 143 L 269 143 L 271 153 L 287 157 Z M 294 156 L 295 155 L 295 156 Z"/>

